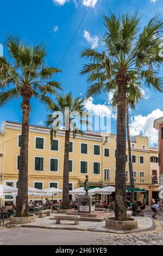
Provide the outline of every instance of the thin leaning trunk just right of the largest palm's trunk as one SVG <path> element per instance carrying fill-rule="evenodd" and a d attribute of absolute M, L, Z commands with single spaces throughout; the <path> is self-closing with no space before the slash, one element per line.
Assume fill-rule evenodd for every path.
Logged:
<path fill-rule="evenodd" d="M 126 128 L 127 128 L 127 141 L 128 141 L 128 165 L 129 165 L 130 186 L 131 186 L 131 202 L 134 203 L 134 175 L 133 175 L 133 163 L 131 159 L 128 103 L 126 104 Z"/>

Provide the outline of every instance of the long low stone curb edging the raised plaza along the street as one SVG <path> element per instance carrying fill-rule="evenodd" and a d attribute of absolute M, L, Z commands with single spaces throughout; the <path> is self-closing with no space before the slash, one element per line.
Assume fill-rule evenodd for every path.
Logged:
<path fill-rule="evenodd" d="M 135 229 L 135 230 L 114 230 L 114 229 L 94 229 L 94 228 L 78 228 L 78 227 L 46 227 L 42 225 L 26 225 L 26 224 L 10 224 L 9 222 L 6 224 L 7 228 L 39 228 L 39 229 L 57 229 L 57 230 L 73 230 L 73 231 L 91 231 L 91 232 L 100 232 L 100 233 L 112 233 L 112 234 L 132 234 L 132 233 L 141 233 L 143 231 L 154 230 L 156 228 L 156 223 L 152 219 L 152 226 L 145 229 Z"/>

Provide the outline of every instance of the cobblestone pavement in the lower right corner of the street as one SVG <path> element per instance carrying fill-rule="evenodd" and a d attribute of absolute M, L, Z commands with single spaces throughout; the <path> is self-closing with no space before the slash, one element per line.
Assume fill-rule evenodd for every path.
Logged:
<path fill-rule="evenodd" d="M 157 216 L 155 230 L 141 233 L 131 233 L 126 235 L 104 235 L 102 239 L 97 239 L 92 245 L 163 245 L 163 213 Z M 152 216 L 151 209 L 146 209 L 145 216 Z M 143 217 L 142 217 L 143 218 Z"/>

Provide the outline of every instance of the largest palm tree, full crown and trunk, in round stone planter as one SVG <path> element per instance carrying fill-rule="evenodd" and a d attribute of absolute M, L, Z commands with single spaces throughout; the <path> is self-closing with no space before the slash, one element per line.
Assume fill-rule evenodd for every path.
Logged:
<path fill-rule="evenodd" d="M 85 48 L 82 57 L 89 60 L 83 67 L 91 83 L 87 97 L 118 87 L 116 203 L 115 219 L 126 219 L 126 100 L 127 86 L 137 77 L 142 84 L 162 92 L 163 81 L 158 70 L 163 58 L 159 56 L 163 20 L 155 15 L 140 30 L 141 17 L 137 13 L 104 16 L 106 32 L 103 52 Z"/>

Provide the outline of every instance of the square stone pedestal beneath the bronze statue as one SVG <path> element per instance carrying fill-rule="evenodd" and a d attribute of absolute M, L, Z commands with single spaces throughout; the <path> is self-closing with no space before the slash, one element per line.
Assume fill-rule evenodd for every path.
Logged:
<path fill-rule="evenodd" d="M 78 212 L 91 213 L 95 211 L 95 197 L 79 196 L 78 197 Z"/>

